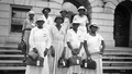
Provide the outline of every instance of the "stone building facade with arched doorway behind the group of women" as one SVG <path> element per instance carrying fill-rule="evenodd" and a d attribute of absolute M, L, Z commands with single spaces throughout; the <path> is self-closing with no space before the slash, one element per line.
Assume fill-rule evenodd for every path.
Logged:
<path fill-rule="evenodd" d="M 99 25 L 99 33 L 103 36 L 107 47 L 132 47 L 131 0 L 0 0 L 0 42 L 20 41 L 21 33 L 12 30 L 15 14 L 13 11 L 22 11 L 21 15 L 26 16 L 26 12 L 33 10 L 38 16 L 43 8 L 50 7 L 50 14 L 54 17 L 65 9 L 62 8 L 65 2 L 70 2 L 77 8 L 84 5 L 88 10 L 89 21 Z"/>

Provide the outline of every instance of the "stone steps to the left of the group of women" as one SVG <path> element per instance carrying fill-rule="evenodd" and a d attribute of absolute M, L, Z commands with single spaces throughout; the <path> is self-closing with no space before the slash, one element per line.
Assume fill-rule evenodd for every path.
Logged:
<path fill-rule="evenodd" d="M 0 46 L 0 74 L 24 74 L 23 54 L 16 44 Z"/>

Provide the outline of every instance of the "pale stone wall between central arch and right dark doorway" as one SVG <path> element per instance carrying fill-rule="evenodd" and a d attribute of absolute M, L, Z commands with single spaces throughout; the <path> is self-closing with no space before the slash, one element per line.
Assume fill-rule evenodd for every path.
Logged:
<path fill-rule="evenodd" d="M 90 3 L 91 23 L 97 23 L 100 27 L 99 33 L 103 36 L 107 47 L 114 47 L 113 21 L 117 5 L 124 0 L 88 0 Z M 106 3 L 105 3 L 105 2 Z"/>

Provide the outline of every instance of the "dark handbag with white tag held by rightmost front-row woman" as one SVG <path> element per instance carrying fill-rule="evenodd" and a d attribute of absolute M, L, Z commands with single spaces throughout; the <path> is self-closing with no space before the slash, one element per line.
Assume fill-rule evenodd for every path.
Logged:
<path fill-rule="evenodd" d="M 82 64 L 80 65 L 82 69 L 96 70 L 97 63 L 91 58 L 84 59 Z"/>

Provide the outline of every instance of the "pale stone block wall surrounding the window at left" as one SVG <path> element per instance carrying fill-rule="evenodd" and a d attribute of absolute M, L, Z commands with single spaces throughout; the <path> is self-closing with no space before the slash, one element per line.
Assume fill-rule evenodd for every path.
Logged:
<path fill-rule="evenodd" d="M 58 15 L 62 4 L 55 1 L 47 2 L 46 0 L 0 0 L 0 44 L 20 41 L 20 34 L 11 34 L 11 5 L 28 5 L 33 7 L 32 10 L 36 13 L 35 17 L 42 14 L 43 8 L 51 8 L 50 15 L 53 17 Z M 15 38 L 15 39 L 14 39 Z"/>

